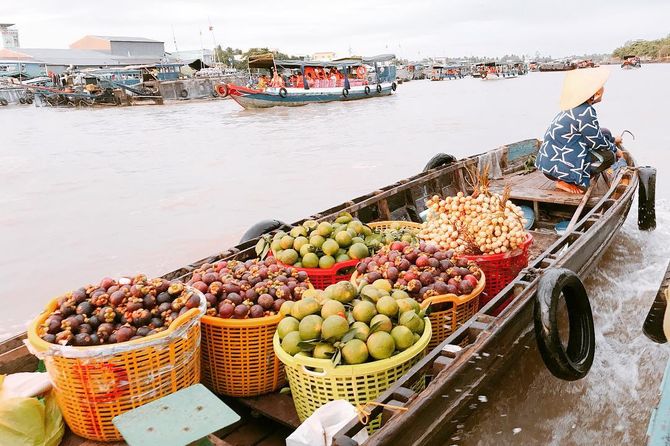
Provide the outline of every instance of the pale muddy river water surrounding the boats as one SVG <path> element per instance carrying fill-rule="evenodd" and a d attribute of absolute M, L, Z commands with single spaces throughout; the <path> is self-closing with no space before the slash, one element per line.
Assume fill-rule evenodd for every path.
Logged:
<path fill-rule="evenodd" d="M 658 229 L 636 207 L 586 278 L 598 347 L 590 374 L 553 378 L 534 344 L 482 395 L 454 444 L 642 444 L 667 348 L 642 322 L 670 257 L 670 65 L 611 67 L 601 124 L 658 168 Z M 562 73 L 414 81 L 351 103 L 242 110 L 231 100 L 110 109 L 0 108 L 0 339 L 59 293 L 159 275 L 458 157 L 541 137 Z"/>

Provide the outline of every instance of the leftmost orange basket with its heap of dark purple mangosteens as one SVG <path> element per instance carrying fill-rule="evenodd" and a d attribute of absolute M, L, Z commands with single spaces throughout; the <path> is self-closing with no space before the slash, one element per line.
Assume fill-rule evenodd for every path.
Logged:
<path fill-rule="evenodd" d="M 205 297 L 165 279 L 103 279 L 53 299 L 28 329 L 70 429 L 120 440 L 112 419 L 200 381 Z"/>

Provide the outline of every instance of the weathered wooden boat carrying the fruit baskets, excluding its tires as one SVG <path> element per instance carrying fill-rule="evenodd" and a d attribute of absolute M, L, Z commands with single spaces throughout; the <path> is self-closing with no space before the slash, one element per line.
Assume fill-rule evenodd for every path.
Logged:
<path fill-rule="evenodd" d="M 533 309 L 538 282 L 543 275 L 554 268 L 568 268 L 582 277 L 588 275 L 626 219 L 638 188 L 635 164 L 627 153 L 628 167 L 619 169 L 607 181 L 596 182 L 590 198 L 581 202 L 580 196 L 555 189 L 541 173 L 528 172 L 527 166 L 532 165 L 539 146 L 540 141 L 531 139 L 458 161 L 453 157 L 436 156 L 422 173 L 308 217 L 326 220 L 348 211 L 365 222 L 418 222 L 427 198 L 434 194 L 472 192 L 468 179 L 482 164 L 492 161 L 502 172 L 501 178 L 492 181 L 492 187 L 502 189 L 504 184 L 510 184 L 512 200 L 535 209 L 529 267 L 378 397 L 379 403 L 403 406 L 407 411 L 390 416 L 392 412 L 384 410 L 382 427 L 366 445 L 445 444 L 456 428 L 452 421 L 467 416 L 473 398 L 482 394 L 487 385 L 495 383 L 506 367 L 522 360 L 526 351 L 522 346 L 534 336 Z M 583 213 L 575 226 L 559 235 L 555 231 L 556 223 L 570 218 L 582 205 Z M 164 277 L 188 279 L 194 269 L 206 262 L 253 258 L 257 240 L 252 238 Z M 37 359 L 23 345 L 24 338 L 25 334 L 0 344 L 0 373 L 35 370 Z M 427 386 L 416 393 L 412 384 L 420 379 L 426 379 Z M 463 391 L 465 389 L 467 391 Z M 242 416 L 242 421 L 218 432 L 216 438 L 211 437 L 214 444 L 258 444 L 261 441 L 280 444 L 299 424 L 293 402 L 286 394 L 224 400 Z M 372 408 L 373 416 L 382 412 L 381 407 Z M 352 421 L 338 433 L 336 444 L 355 444 L 351 437 L 361 428 L 358 421 Z M 68 434 L 63 444 L 95 443 Z"/>

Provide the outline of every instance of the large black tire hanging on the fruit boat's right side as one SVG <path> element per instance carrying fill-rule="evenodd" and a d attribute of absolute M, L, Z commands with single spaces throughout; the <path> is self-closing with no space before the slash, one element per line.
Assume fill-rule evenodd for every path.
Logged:
<path fill-rule="evenodd" d="M 570 321 L 567 348 L 558 331 L 558 303 L 563 295 Z M 584 378 L 593 364 L 596 335 L 591 304 L 579 276 L 569 269 L 546 270 L 535 293 L 535 339 L 547 369 L 565 381 Z"/>

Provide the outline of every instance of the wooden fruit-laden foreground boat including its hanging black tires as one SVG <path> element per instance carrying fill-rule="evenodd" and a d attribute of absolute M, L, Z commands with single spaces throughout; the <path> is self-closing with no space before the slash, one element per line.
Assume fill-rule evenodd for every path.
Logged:
<path fill-rule="evenodd" d="M 370 419 L 382 415 L 381 427 L 364 443 L 373 445 L 446 444 L 463 420 L 477 406 L 477 395 L 496 385 L 501 373 L 528 354 L 524 348 L 535 337 L 547 367 L 562 379 L 583 377 L 593 360 L 593 320 L 579 277 L 587 277 L 611 244 L 639 190 L 641 227 L 652 226 L 653 171 L 636 166 L 624 152 L 627 165 L 593 181 L 583 197 L 557 190 L 553 182 L 534 170 L 533 160 L 540 141 L 530 139 L 505 145 L 480 155 L 457 160 L 439 154 L 423 172 L 369 194 L 311 215 L 308 219 L 330 221 L 349 212 L 362 222 L 421 222 L 426 200 L 435 194 L 454 196 L 474 190 L 473 175 L 489 172 L 490 187 L 511 186 L 510 199 L 532 210 L 529 233 L 532 246 L 528 267 L 523 269 L 442 343 L 420 359 L 376 401 L 365 406 Z M 559 223 L 570 220 L 567 229 Z M 305 220 L 301 220 L 303 222 Z M 298 222 L 298 223 L 300 223 Z M 168 280 L 188 280 L 204 265 L 223 260 L 246 260 L 257 256 L 260 237 L 285 228 L 271 220 L 250 228 L 240 244 L 165 274 Z M 570 334 L 566 347 L 558 337 L 556 306 L 564 296 L 569 313 Z M 0 373 L 34 371 L 38 360 L 18 335 L 0 344 Z M 416 386 L 417 383 L 422 385 Z M 423 390 L 416 390 L 423 388 Z M 285 392 L 251 398 L 223 400 L 241 420 L 209 436 L 215 445 L 283 444 L 298 427 L 291 396 Z M 334 436 L 338 446 L 358 444 L 354 435 L 364 429 L 353 419 Z M 67 446 L 95 443 L 67 433 Z M 123 443 L 114 443 L 120 445 Z"/>

